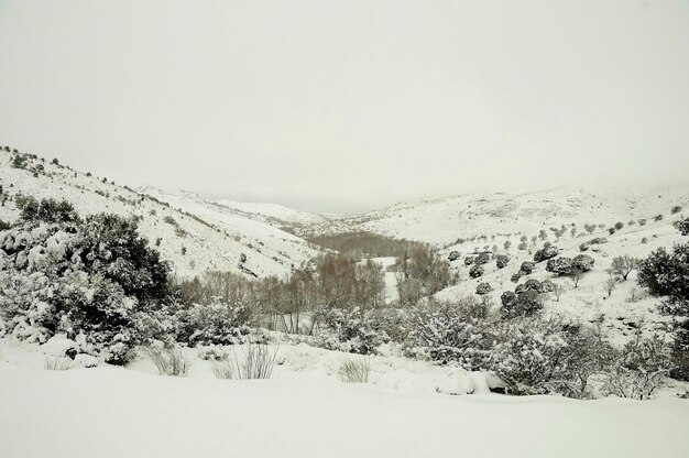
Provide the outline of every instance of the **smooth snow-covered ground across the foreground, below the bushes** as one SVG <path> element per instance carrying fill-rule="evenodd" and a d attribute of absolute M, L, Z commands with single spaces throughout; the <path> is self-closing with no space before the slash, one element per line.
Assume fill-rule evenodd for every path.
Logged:
<path fill-rule="evenodd" d="M 461 373 L 392 357 L 372 360 L 371 383 L 350 384 L 336 375 L 346 358 L 283 345 L 272 380 L 237 381 L 216 380 L 201 360 L 187 378 L 157 375 L 146 360 L 50 371 L 36 348 L 0 340 L 2 456 L 683 458 L 689 449 L 687 400 L 452 396 L 434 385 Z"/>

